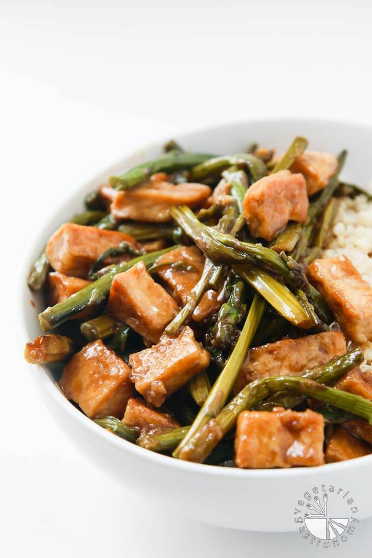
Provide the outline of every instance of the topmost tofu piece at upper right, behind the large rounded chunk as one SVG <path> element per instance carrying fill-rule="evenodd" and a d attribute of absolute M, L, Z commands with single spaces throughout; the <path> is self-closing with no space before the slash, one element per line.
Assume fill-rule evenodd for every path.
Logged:
<path fill-rule="evenodd" d="M 304 151 L 294 161 L 291 171 L 301 172 L 306 180 L 307 193 L 312 196 L 328 184 L 337 166 L 337 158 L 332 153 Z"/>

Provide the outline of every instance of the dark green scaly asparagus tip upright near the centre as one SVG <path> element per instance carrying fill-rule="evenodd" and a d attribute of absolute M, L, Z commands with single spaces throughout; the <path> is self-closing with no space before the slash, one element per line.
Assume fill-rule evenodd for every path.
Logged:
<path fill-rule="evenodd" d="M 235 277 L 231 285 L 228 300 L 221 306 L 213 329 L 214 345 L 227 349 L 234 341 L 236 326 L 240 319 L 241 305 L 244 299 L 244 283 Z"/>

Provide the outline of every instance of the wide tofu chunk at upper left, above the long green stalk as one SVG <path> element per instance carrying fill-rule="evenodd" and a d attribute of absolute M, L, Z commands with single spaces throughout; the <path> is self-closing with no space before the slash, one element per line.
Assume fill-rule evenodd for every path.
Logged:
<path fill-rule="evenodd" d="M 137 248 L 136 240 L 128 234 L 65 223 L 48 240 L 46 256 L 55 271 L 86 277 L 100 254 L 124 240 Z M 131 258 L 128 254 L 127 259 Z"/>

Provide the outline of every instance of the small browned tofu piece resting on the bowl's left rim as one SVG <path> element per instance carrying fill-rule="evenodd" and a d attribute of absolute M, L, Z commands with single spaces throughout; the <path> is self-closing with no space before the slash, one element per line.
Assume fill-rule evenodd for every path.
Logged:
<path fill-rule="evenodd" d="M 41 335 L 26 343 L 25 359 L 30 364 L 58 362 L 74 352 L 73 340 L 64 335 Z"/>

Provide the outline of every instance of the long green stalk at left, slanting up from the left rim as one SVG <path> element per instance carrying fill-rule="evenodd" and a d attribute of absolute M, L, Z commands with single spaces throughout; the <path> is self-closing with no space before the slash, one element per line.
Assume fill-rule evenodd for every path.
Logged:
<path fill-rule="evenodd" d="M 64 323 L 64 321 L 69 320 L 85 308 L 97 306 L 106 300 L 112 280 L 117 273 L 127 271 L 141 261 L 146 266 L 150 266 L 157 258 L 175 248 L 178 248 L 178 246 L 175 245 L 157 252 L 143 254 L 143 256 L 138 256 L 137 258 L 131 259 L 129 262 L 123 262 L 119 263 L 117 266 L 113 266 L 103 277 L 100 277 L 90 285 L 82 288 L 81 291 L 69 296 L 55 306 L 48 307 L 44 312 L 41 312 L 38 318 L 42 331 L 55 328 L 55 326 Z"/>

